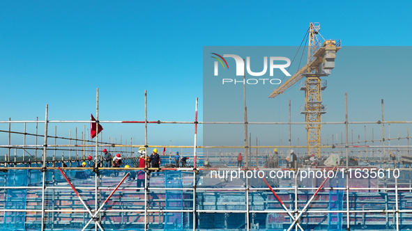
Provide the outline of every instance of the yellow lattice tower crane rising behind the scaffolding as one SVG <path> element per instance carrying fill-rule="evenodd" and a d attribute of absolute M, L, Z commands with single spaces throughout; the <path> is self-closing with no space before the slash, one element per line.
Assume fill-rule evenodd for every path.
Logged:
<path fill-rule="evenodd" d="M 336 52 L 341 48 L 340 40 L 325 40 L 319 33 L 319 22 L 310 23 L 309 45 L 307 51 L 307 64 L 293 74 L 286 82 L 270 94 L 270 98 L 283 94 L 300 79 L 305 79 L 305 84 L 300 85 L 300 90 L 305 90 L 305 105 L 300 106 L 300 114 L 305 115 L 307 130 L 307 154 L 321 155 L 321 116 L 326 113 L 326 105 L 322 104 L 321 91 L 326 88 L 326 80 L 330 71 L 335 67 Z"/>

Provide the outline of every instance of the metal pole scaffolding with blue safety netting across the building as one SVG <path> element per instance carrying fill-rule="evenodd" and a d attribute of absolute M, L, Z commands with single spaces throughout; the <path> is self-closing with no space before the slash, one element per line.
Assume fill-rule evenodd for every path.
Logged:
<path fill-rule="evenodd" d="M 75 138 L 72 138 L 71 131 L 69 138 L 58 137 L 56 127 L 54 127 L 54 136 L 49 136 L 49 124 L 51 123 L 89 124 L 91 121 L 48 120 L 47 105 L 43 121 L 12 121 L 10 119 L 0 121 L 0 124 L 9 125 L 8 131 L 0 131 L 9 135 L 8 144 L 0 144 L 0 148 L 8 149 L 5 161 L 0 163 L 3 166 L 0 167 L 0 208 L 3 207 L 0 212 L 3 214 L 3 230 L 249 231 L 288 228 L 290 230 L 294 221 L 297 221 L 299 228 L 303 230 L 407 230 L 412 225 L 412 168 L 410 165 L 408 168 L 407 164 L 406 166 L 399 164 L 401 153 L 409 156 L 411 148 L 409 130 L 404 138 L 401 138 L 398 132 L 397 138 L 385 139 L 384 132 L 385 127 L 390 129 L 391 123 L 410 124 L 412 122 L 384 121 L 383 101 L 382 120 L 380 121 L 348 121 L 346 97 L 345 121 L 318 122 L 322 125 L 345 126 L 345 142 L 342 138 L 340 143 L 336 141 L 329 144 L 327 141 L 326 145 L 323 142 L 323 145 L 316 147 L 326 156 L 330 154 L 329 150 L 346 156 L 346 161 L 338 166 L 337 170 L 326 166 L 310 168 L 314 171 L 328 171 L 328 174 L 331 172 L 330 174 L 335 175 L 327 180 L 316 177 L 301 180 L 303 171 L 297 165 L 295 168 L 265 168 L 266 156 L 271 154 L 269 149 L 307 149 L 307 145 L 290 145 L 289 143 L 289 145 L 252 146 L 251 140 L 248 143 L 247 138 L 245 146 L 197 145 L 197 125 L 246 123 L 199 122 L 197 121 L 197 99 L 195 118 L 192 122 L 148 121 L 146 102 L 145 93 L 144 121 L 100 121 L 97 93 L 96 121 L 94 122 L 96 127 L 102 123 L 144 123 L 144 145 L 135 145 L 132 140 L 130 144 L 123 144 L 123 141 L 117 143 L 116 139 L 113 142 L 113 138 L 109 138 L 109 142 L 106 143 L 102 141 L 98 132 L 96 140 L 92 143 L 86 136 L 89 132 L 86 133 L 85 127 L 81 134 L 82 138 L 77 138 L 77 132 Z M 245 120 L 246 118 L 245 116 Z M 24 123 L 24 132 L 11 131 L 12 123 Z M 36 124 L 36 134 L 26 133 L 28 123 Z M 38 124 L 42 123 L 45 126 L 43 135 L 38 134 L 37 131 Z M 192 124 L 194 125 L 194 145 L 148 145 L 148 123 Z M 290 126 L 306 125 L 307 122 L 291 122 L 289 117 L 289 122 L 247 122 L 247 124 L 289 125 L 290 140 Z M 372 138 L 367 141 L 365 135 L 365 141 L 360 141 L 358 138 L 358 141 L 352 139 L 349 142 L 348 126 L 363 124 L 381 126 L 381 139 Z M 23 135 L 23 145 L 12 145 L 10 134 Z M 36 143 L 26 144 L 26 136 L 35 136 Z M 37 143 L 38 137 L 44 138 L 43 144 Z M 54 138 L 54 143 L 50 144 L 48 138 Z M 57 144 L 56 139 L 68 140 L 69 144 Z M 391 139 L 397 139 L 397 145 L 391 145 Z M 407 140 L 407 145 L 400 145 L 401 140 Z M 146 151 L 147 148 L 164 147 L 185 149 L 188 150 L 185 151 L 186 154 L 192 154 L 193 162 L 190 162 L 190 166 L 186 168 L 174 168 L 173 166 L 135 168 L 138 157 L 135 156 L 134 148 L 142 147 L 146 148 Z M 98 166 L 101 158 L 98 153 L 100 148 L 110 148 L 121 152 L 124 157 L 123 164 L 130 164 L 132 168 Z M 117 148 L 125 148 L 125 150 L 117 150 Z M 200 148 L 203 152 L 197 151 Z M 190 149 L 193 149 L 193 152 L 190 152 Z M 231 152 L 208 152 L 208 149 L 231 149 Z M 236 153 L 236 149 L 245 149 L 247 161 L 241 169 L 235 168 L 235 161 L 227 161 L 233 157 L 232 154 Z M 14 161 L 10 159 L 12 150 L 15 153 Z M 17 160 L 17 150 L 22 151 L 22 160 Z M 28 150 L 35 150 L 36 154 L 32 155 Z M 42 151 L 41 160 L 37 158 L 38 150 Z M 253 150 L 255 150 L 254 153 Z M 65 159 L 63 154 L 61 159 L 56 157 L 56 152 L 60 151 L 69 152 L 68 157 Z M 52 159 L 47 159 L 47 152 L 53 152 Z M 72 152 L 75 152 L 73 157 Z M 389 159 L 389 154 L 387 154 L 389 152 L 399 152 L 395 161 Z M 33 159 L 26 159 L 25 153 L 33 156 L 31 157 Z M 87 160 L 89 165 L 86 168 L 77 167 L 79 163 L 86 161 L 85 157 L 89 153 L 93 153 L 93 162 Z M 349 157 L 361 157 L 362 153 L 366 155 L 360 161 L 368 162 L 370 166 L 349 166 Z M 370 157 L 371 155 L 373 158 Z M 304 156 L 305 152 L 300 154 L 300 157 Z M 169 156 L 161 159 L 162 163 L 171 163 Z M 204 159 L 211 159 L 215 167 L 202 166 Z M 70 163 L 67 168 L 61 168 L 67 175 L 68 181 L 59 170 L 63 162 Z M 283 164 L 286 164 L 284 160 L 281 165 Z M 375 167 L 381 170 L 379 177 L 350 177 L 357 173 L 357 168 L 367 169 L 372 173 Z M 257 170 L 262 175 L 270 175 L 273 171 L 284 172 L 285 177 L 270 177 L 266 180 L 262 180 L 261 177 L 235 177 L 234 180 L 229 181 L 227 177 L 220 175 L 220 171 L 227 173 L 229 170 L 239 170 L 239 175 L 241 175 L 241 170 L 245 172 Z M 293 173 L 296 177 L 290 177 L 290 175 L 286 177 L 285 171 L 288 170 L 289 174 Z M 144 186 L 136 184 L 136 177 L 142 173 L 140 171 L 144 171 Z M 213 174 L 215 174 L 214 177 Z M 77 193 L 80 200 L 77 198 Z M 112 198 L 109 200 L 110 196 Z M 280 200 L 277 200 L 277 196 Z M 282 205 L 285 205 L 287 210 Z M 288 212 L 291 212 L 294 218 L 291 218 Z M 293 228 L 298 230 L 298 226 Z"/>

